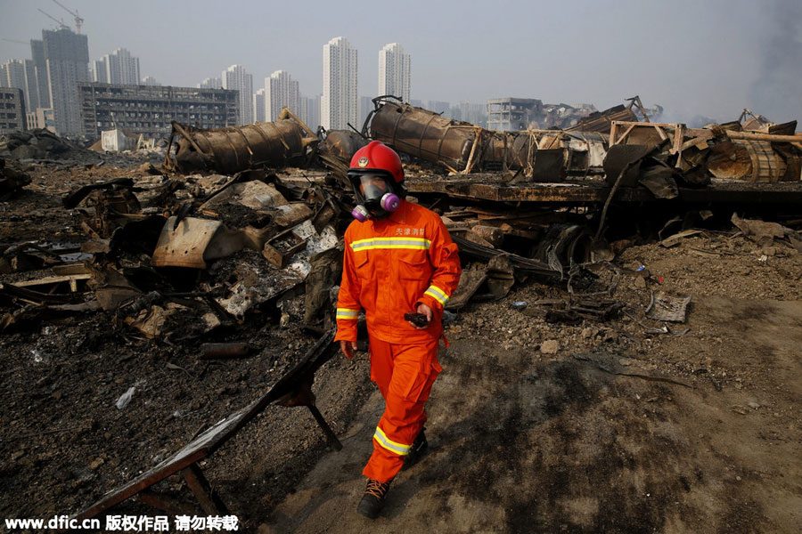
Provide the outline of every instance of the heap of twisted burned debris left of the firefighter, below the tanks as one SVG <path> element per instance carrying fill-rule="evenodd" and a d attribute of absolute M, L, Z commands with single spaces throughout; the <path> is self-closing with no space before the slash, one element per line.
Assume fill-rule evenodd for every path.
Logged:
<path fill-rule="evenodd" d="M 316 258 L 337 247 L 339 201 L 295 183 L 248 171 L 122 178 L 74 190 L 63 203 L 89 236 L 81 246 L 86 261 L 58 265 L 32 244 L 6 248 L 5 271 L 48 266 L 58 276 L 4 283 L 5 304 L 17 304 L 4 305 L 2 327 L 99 308 L 148 338 L 235 324 L 302 290 L 320 269 Z"/>

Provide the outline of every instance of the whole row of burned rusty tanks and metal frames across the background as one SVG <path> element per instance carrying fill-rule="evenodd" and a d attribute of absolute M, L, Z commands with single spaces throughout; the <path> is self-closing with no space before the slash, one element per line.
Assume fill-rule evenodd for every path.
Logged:
<path fill-rule="evenodd" d="M 634 97 L 626 108 L 593 114 L 566 130 L 498 132 L 393 98 L 374 99 L 375 109 L 361 135 L 322 128 L 313 132 L 289 109 L 272 123 L 213 130 L 173 123 L 165 166 L 183 173 L 233 174 L 259 166 L 305 166 L 316 157 L 342 176 L 350 156 L 374 139 L 454 174 L 509 171 L 522 177 L 518 182 L 601 175 L 614 182 L 617 174 L 610 168 L 618 168 L 616 161 L 639 158 L 658 145 L 659 160 L 695 185 L 710 177 L 795 182 L 802 173 L 802 136 L 794 134 L 796 121 L 770 125 L 750 119 L 749 127 L 765 129 L 757 132 L 745 131 L 740 122 L 706 128 L 653 123 Z M 645 122 L 637 121 L 635 105 Z M 628 148 L 613 149 L 618 146 Z M 636 172 L 630 169 L 630 174 Z"/>

